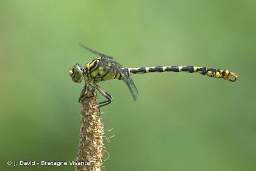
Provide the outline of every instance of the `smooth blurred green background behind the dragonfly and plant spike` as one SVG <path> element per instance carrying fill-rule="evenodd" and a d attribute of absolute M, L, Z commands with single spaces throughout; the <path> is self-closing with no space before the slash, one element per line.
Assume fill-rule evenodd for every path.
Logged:
<path fill-rule="evenodd" d="M 199 74 L 135 75 L 133 101 L 118 80 L 102 108 L 106 170 L 255 170 L 255 1 L 0 1 L 0 168 L 10 161 L 76 158 L 82 84 L 68 69 L 96 56 L 123 66 L 208 66 Z M 100 100 L 104 98 L 100 97 Z M 107 153 L 105 153 L 107 158 Z"/>

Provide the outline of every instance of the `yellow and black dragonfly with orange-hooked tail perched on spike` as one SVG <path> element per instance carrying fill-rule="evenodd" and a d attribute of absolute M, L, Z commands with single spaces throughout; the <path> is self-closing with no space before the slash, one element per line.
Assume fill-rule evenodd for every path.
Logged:
<path fill-rule="evenodd" d="M 141 68 L 123 68 L 123 66 L 117 63 L 113 57 L 94 51 L 90 47 L 84 46 L 83 44 L 80 44 L 80 46 L 87 49 L 87 51 L 98 55 L 98 57 L 85 64 L 84 68 L 79 63 L 76 63 L 73 68 L 69 69 L 68 73 L 75 83 L 80 83 L 83 79 L 85 80 L 84 93 L 82 93 L 79 97 L 79 102 L 95 96 L 95 89 L 97 89 L 102 96 L 107 99 L 103 102 L 99 102 L 99 108 L 108 105 L 113 100 L 113 97 L 98 85 L 98 83 L 102 81 L 112 79 L 123 80 L 128 86 L 133 99 L 136 101 L 138 99 L 138 89 L 136 88 L 133 80 L 130 78 L 131 75 L 135 74 L 146 74 L 151 72 L 197 72 L 202 75 L 207 75 L 208 77 L 222 78 L 229 82 L 235 82 L 238 77 L 238 74 L 235 72 L 230 72 L 227 69 L 213 69 L 201 66 L 153 66 Z M 93 83 L 93 85 L 91 85 L 91 83 Z M 91 96 L 85 96 L 88 91 L 91 91 Z"/>

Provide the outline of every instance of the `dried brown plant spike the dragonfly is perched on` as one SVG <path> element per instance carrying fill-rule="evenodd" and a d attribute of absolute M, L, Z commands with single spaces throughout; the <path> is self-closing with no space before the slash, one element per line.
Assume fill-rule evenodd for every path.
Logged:
<path fill-rule="evenodd" d="M 81 94 L 85 92 L 84 89 Z M 84 95 L 88 97 L 91 96 L 90 93 L 90 91 L 87 91 Z M 80 127 L 79 150 L 76 161 L 90 162 L 90 165 L 77 165 L 76 170 L 98 171 L 101 170 L 104 153 L 104 124 L 101 123 L 98 96 L 95 93 L 93 97 L 85 98 L 80 103 L 82 104 L 82 125 Z"/>

